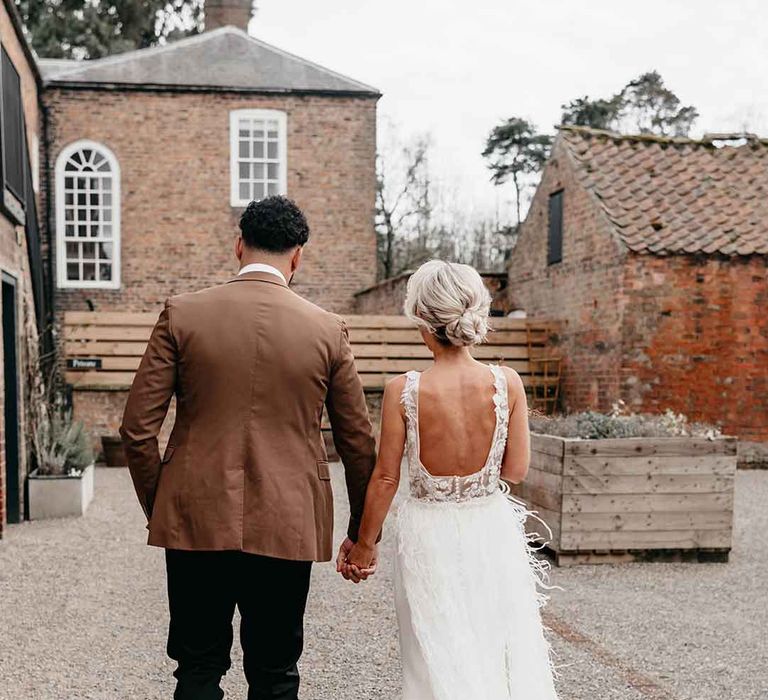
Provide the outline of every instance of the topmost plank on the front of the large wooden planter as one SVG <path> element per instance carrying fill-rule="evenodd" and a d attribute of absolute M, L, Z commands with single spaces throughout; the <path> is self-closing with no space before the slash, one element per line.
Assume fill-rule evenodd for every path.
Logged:
<path fill-rule="evenodd" d="M 736 454 L 733 438 L 616 438 L 574 440 L 566 438 L 566 454 L 627 457 L 638 455 Z"/>

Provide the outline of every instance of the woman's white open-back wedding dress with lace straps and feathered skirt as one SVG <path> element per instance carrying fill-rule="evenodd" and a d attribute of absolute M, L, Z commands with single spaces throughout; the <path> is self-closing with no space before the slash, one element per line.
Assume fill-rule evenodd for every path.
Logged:
<path fill-rule="evenodd" d="M 509 404 L 504 372 L 490 369 L 496 429 L 485 466 L 463 477 L 421 463 L 421 375 L 406 375 L 410 494 L 395 575 L 403 700 L 557 698 L 539 613 L 546 565 L 528 547 L 528 511 L 500 482 Z"/>

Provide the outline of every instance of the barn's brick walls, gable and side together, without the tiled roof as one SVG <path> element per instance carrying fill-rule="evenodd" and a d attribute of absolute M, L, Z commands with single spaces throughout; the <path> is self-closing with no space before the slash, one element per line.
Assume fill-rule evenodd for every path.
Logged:
<path fill-rule="evenodd" d="M 509 268 L 513 306 L 559 319 L 563 408 L 671 408 L 768 441 L 768 259 L 640 255 L 555 152 Z M 548 197 L 564 189 L 563 261 L 546 264 Z"/>

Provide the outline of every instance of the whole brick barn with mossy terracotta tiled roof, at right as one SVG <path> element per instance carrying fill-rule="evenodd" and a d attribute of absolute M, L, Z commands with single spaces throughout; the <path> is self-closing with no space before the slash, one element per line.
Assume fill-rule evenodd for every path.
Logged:
<path fill-rule="evenodd" d="M 569 411 L 666 408 L 768 442 L 768 140 L 560 129 L 509 266 L 563 319 Z M 763 457 L 765 458 L 765 457 Z"/>

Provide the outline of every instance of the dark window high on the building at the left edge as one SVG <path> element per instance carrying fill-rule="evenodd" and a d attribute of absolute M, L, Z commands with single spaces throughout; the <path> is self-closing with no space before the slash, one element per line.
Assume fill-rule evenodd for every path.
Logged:
<path fill-rule="evenodd" d="M 4 184 L 24 204 L 24 125 L 21 80 L 2 50 L 2 131 Z"/>

